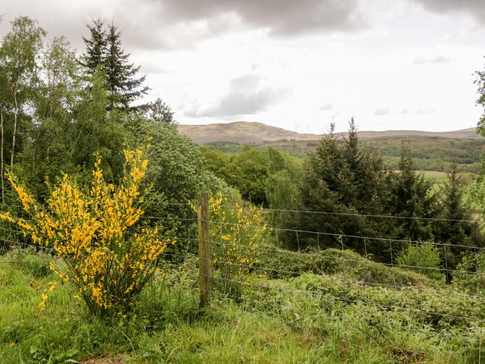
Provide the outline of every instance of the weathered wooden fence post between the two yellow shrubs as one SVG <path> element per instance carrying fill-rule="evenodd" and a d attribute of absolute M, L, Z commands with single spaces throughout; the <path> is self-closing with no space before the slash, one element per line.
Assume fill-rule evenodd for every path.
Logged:
<path fill-rule="evenodd" d="M 197 196 L 197 225 L 199 227 L 199 287 L 200 307 L 211 300 L 211 247 L 209 244 L 209 193 Z"/>

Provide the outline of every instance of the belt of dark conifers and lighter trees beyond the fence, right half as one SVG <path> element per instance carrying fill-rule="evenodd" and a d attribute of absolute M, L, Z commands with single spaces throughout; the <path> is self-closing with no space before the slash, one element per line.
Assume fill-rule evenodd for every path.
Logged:
<path fill-rule="evenodd" d="M 382 155 L 362 146 L 353 119 L 343 140 L 333 130 L 330 125 L 303 162 L 273 148 L 245 147 L 238 155 L 202 151 L 213 173 L 244 198 L 270 208 L 272 225 L 283 229 L 279 243 L 288 248 L 343 245 L 391 263 L 406 241 L 447 243 L 450 248 L 441 254 L 453 269 L 469 251 L 456 245 L 484 246 L 482 229 L 464 200 L 457 164 L 435 191 L 432 180 L 416 171 L 404 142 L 395 171 Z M 364 242 L 364 237 L 369 239 Z"/>

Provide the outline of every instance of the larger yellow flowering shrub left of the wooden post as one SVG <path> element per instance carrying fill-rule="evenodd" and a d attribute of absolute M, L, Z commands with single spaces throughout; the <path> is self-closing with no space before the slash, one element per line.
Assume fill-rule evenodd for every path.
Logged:
<path fill-rule="evenodd" d="M 25 211 L 31 218 L 1 213 L 17 223 L 37 245 L 51 248 L 65 264 L 51 270 L 78 288 L 89 311 L 106 316 L 124 313 L 154 276 L 168 243 L 157 228 L 140 224 L 146 190 L 140 184 L 148 161 L 143 150 L 125 150 L 125 176 L 119 186 L 105 182 L 101 158 L 94 166 L 89 189 L 81 189 L 64 175 L 41 207 L 10 175 Z M 41 307 L 45 306 L 46 294 Z"/>

